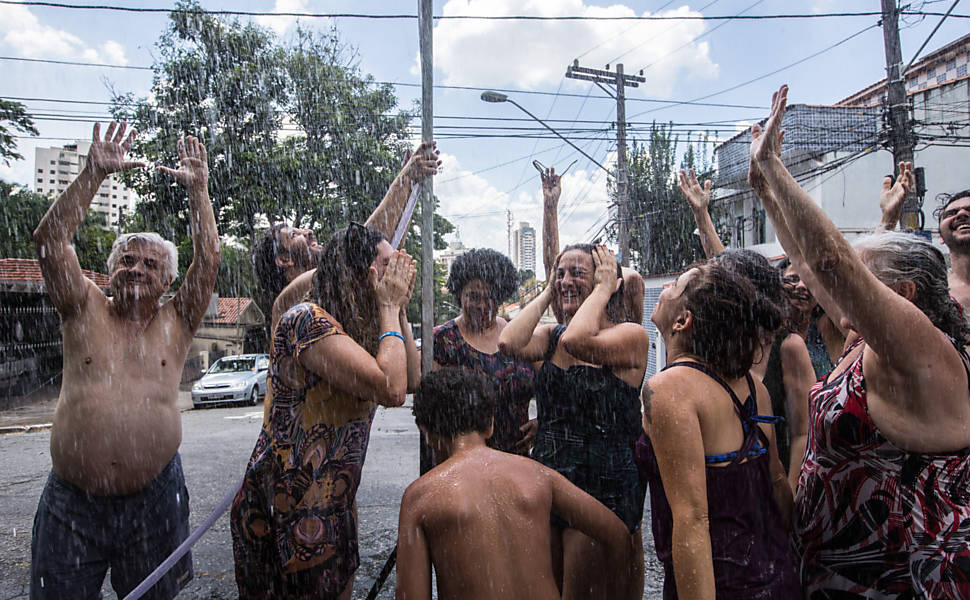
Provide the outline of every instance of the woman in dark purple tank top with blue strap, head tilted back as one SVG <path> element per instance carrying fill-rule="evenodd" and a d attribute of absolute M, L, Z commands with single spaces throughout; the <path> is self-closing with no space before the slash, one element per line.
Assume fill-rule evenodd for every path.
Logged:
<path fill-rule="evenodd" d="M 710 261 L 664 289 L 651 320 L 668 370 L 644 386 L 636 458 L 665 600 L 801 597 L 771 400 L 748 373 L 763 332 L 781 324 L 777 305 Z"/>

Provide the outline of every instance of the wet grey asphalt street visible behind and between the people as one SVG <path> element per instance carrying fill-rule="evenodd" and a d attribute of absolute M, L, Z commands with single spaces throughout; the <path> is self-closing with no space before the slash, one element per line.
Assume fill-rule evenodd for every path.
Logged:
<path fill-rule="evenodd" d="M 182 413 L 182 465 L 195 528 L 238 484 L 249 459 L 262 407 L 212 408 Z M 0 436 L 0 600 L 28 597 L 30 532 L 37 500 L 50 471 L 49 431 Z M 361 567 L 354 598 L 365 598 L 397 533 L 404 488 L 418 473 L 418 430 L 407 407 L 379 408 L 357 502 Z M 645 516 L 647 586 L 644 598 L 661 596 L 662 569 L 653 557 Z M 223 515 L 192 550 L 195 579 L 184 598 L 236 598 L 229 520 Z M 394 576 L 379 598 L 393 598 Z M 105 584 L 105 598 L 116 598 Z"/>

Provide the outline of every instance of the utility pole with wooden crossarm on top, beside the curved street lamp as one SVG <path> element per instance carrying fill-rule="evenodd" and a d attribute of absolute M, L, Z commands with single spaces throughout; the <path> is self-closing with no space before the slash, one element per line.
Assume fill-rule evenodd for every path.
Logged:
<path fill-rule="evenodd" d="M 617 228 L 618 243 L 620 246 L 620 264 L 624 267 L 630 264 L 630 217 L 629 217 L 629 180 L 626 168 L 626 88 L 640 87 L 641 83 L 647 80 L 643 78 L 643 71 L 640 75 L 625 75 L 623 64 L 616 65 L 616 71 L 610 71 L 610 66 L 606 65 L 606 70 L 590 69 L 579 66 L 579 60 L 566 67 L 566 77 L 569 79 L 582 79 L 592 81 L 607 94 L 616 99 L 616 212 L 619 226 Z M 603 87 L 610 85 L 615 92 Z"/>

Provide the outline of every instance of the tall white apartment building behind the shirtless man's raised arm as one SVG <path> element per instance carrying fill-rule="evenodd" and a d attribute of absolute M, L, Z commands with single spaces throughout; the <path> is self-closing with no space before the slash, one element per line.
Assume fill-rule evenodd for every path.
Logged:
<path fill-rule="evenodd" d="M 74 181 L 87 161 L 91 142 L 79 141 L 63 148 L 37 148 L 34 151 L 34 191 L 47 196 L 57 196 Z M 117 227 L 123 215 L 135 209 L 138 196 L 109 175 L 101 184 L 91 210 L 105 215 L 105 225 Z"/>

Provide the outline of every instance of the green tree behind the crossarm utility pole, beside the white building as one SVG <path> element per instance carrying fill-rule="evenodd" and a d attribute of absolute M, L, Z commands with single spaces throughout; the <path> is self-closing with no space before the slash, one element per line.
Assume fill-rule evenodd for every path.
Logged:
<path fill-rule="evenodd" d="M 644 275 L 676 273 L 704 258 L 687 200 L 677 189 L 679 169 L 694 169 L 698 179 L 710 177 L 713 166 L 688 144 L 677 168 L 678 138 L 670 125 L 653 123 L 645 144 L 629 152 L 629 215 L 631 264 Z M 615 182 L 611 181 L 615 197 Z M 712 207 L 719 231 L 720 213 Z M 615 239 L 615 228 L 612 231 Z M 722 239 L 727 242 L 724 237 Z"/>

